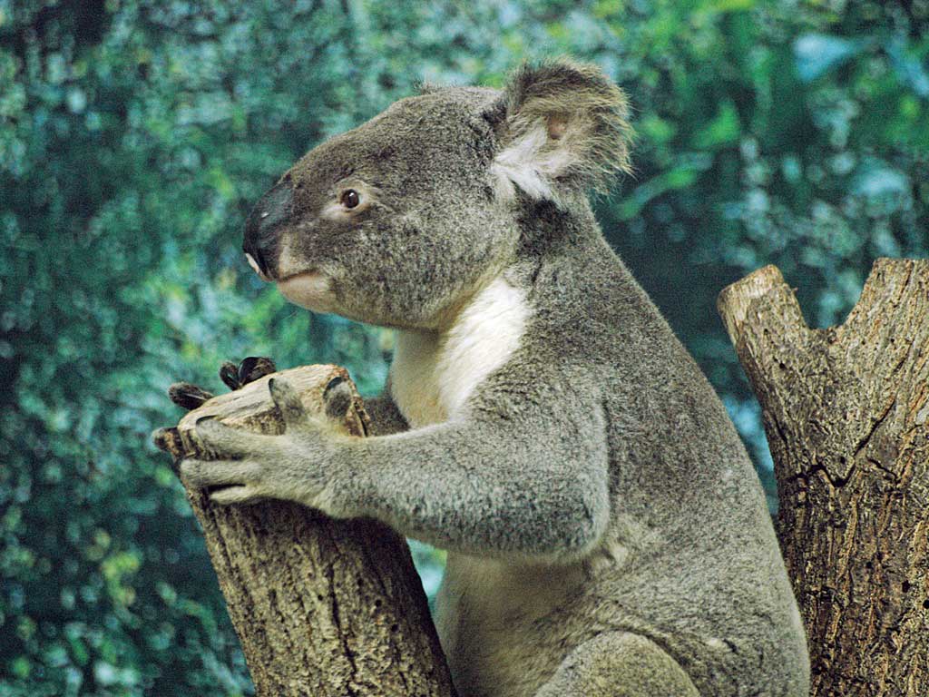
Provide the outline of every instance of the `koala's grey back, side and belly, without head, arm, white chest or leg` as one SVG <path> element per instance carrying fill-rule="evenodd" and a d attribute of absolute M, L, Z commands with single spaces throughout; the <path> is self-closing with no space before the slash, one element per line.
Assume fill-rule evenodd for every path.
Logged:
<path fill-rule="evenodd" d="M 488 385 L 532 375 L 598 395 L 610 521 L 575 567 L 450 556 L 439 628 L 457 679 L 531 694 L 573 647 L 621 630 L 703 694 L 804 695 L 805 635 L 765 496 L 713 388 L 606 243 L 527 266 L 513 283 L 530 323 Z"/>

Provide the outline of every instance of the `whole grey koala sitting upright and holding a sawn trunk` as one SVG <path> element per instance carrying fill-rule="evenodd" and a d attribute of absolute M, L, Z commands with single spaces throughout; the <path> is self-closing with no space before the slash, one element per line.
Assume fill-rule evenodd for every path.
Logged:
<path fill-rule="evenodd" d="M 628 111 L 556 59 L 429 86 L 309 151 L 243 248 L 296 305 L 396 330 L 374 435 L 277 380 L 283 434 L 204 422 L 220 457 L 181 474 L 448 550 L 436 624 L 463 697 L 801 697 L 752 463 L 589 203 L 630 170 Z"/>

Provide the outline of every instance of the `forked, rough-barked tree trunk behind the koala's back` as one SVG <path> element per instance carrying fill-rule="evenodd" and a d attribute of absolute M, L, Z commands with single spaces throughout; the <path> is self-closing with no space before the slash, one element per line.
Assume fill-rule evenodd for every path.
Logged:
<path fill-rule="evenodd" d="M 929 694 L 929 260 L 809 329 L 768 266 L 719 309 L 761 402 L 814 696 Z"/>

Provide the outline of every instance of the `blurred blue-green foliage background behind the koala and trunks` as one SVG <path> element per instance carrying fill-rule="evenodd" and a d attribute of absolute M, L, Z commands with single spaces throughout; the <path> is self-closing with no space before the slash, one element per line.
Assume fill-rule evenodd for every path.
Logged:
<path fill-rule="evenodd" d="M 381 386 L 390 335 L 286 305 L 240 232 L 417 81 L 568 53 L 626 87 L 637 174 L 598 215 L 773 493 L 714 298 L 775 263 L 822 326 L 876 256 L 926 256 L 927 22 L 926 0 L 0 0 L 0 694 L 250 692 L 149 433 L 170 382 L 216 388 L 228 357 Z"/>

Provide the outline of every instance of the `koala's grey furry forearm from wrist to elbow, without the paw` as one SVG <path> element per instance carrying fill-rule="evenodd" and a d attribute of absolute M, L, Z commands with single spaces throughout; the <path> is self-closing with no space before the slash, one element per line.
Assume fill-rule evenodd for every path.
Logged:
<path fill-rule="evenodd" d="M 346 442 L 323 507 L 464 553 L 580 557 L 609 518 L 606 419 L 595 400 L 559 391 Z"/>

